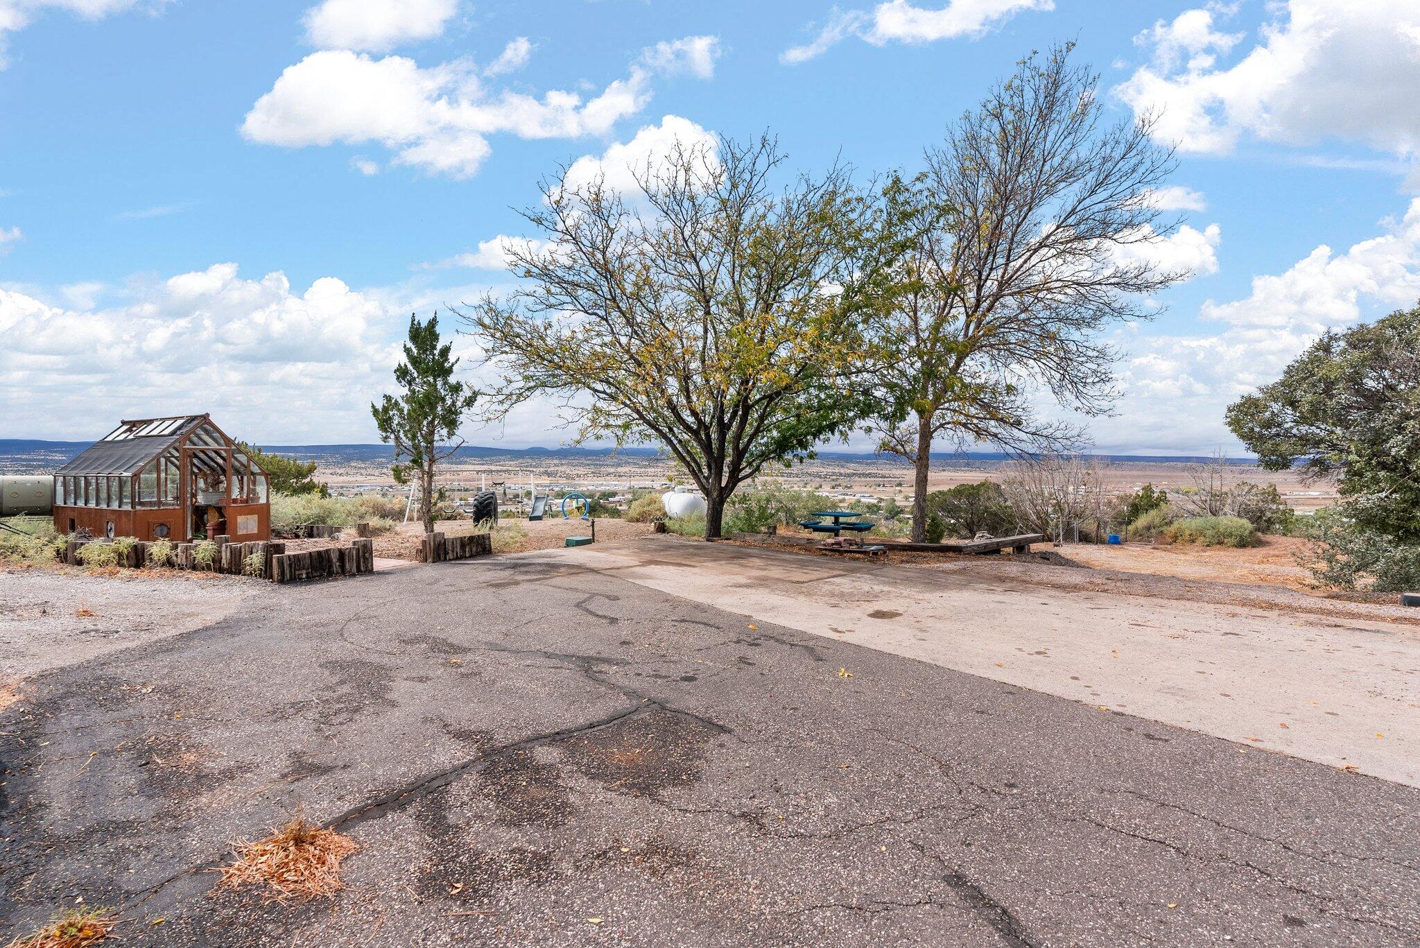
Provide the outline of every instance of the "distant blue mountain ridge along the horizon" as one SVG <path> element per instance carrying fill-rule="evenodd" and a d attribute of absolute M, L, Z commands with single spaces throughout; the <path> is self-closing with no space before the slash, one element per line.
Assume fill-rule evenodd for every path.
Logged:
<path fill-rule="evenodd" d="M 60 463 L 74 458 L 88 448 L 91 441 L 38 441 L 27 438 L 0 438 L 0 459 L 28 459 L 31 463 L 41 459 L 60 459 Z M 260 445 L 261 451 L 275 452 L 301 458 L 302 460 L 358 462 L 358 460 L 388 460 L 390 458 L 389 445 Z M 611 458 L 625 455 L 629 458 L 656 458 L 660 452 L 655 448 L 488 448 L 484 445 L 464 445 L 454 455 L 456 458 Z M 907 462 L 896 455 L 875 455 L 870 452 L 821 451 L 821 460 L 858 462 L 858 463 L 890 463 L 903 465 Z M 1092 455 L 1100 460 L 1115 463 L 1200 463 L 1211 458 L 1200 455 Z M 995 451 L 968 451 L 961 453 L 943 453 L 936 460 L 940 462 L 1003 462 L 1010 456 Z M 1252 458 L 1228 458 L 1228 463 L 1252 465 Z"/>

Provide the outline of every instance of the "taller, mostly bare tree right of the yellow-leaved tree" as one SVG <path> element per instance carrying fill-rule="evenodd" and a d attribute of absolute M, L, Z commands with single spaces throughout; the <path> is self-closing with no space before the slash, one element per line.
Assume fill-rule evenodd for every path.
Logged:
<path fill-rule="evenodd" d="M 1186 276 L 1145 252 L 1177 226 L 1152 199 L 1172 152 L 1147 119 L 1106 126 L 1099 77 L 1069 53 L 1020 63 L 927 152 L 924 175 L 885 192 L 920 236 L 876 327 L 885 408 L 870 431 L 916 465 L 914 540 L 934 439 L 1076 448 L 1075 428 L 1038 415 L 1038 392 L 1108 411 L 1115 352 L 1100 330 L 1145 318 L 1143 298 Z"/>

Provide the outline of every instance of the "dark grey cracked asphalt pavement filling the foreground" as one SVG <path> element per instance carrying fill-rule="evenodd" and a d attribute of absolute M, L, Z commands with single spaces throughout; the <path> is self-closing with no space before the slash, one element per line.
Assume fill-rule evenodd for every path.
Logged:
<path fill-rule="evenodd" d="M 0 753 L 0 939 L 1420 944 L 1414 787 L 565 557 L 274 587 L 33 679 Z M 213 893 L 297 810 L 346 891 Z"/>

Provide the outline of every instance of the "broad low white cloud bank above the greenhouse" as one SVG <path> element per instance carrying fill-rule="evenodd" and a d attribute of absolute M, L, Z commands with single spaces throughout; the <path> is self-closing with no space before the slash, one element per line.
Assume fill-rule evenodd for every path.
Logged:
<path fill-rule="evenodd" d="M 20 419 L 24 432 L 84 438 L 124 416 L 210 411 L 268 443 L 366 441 L 369 398 L 329 392 L 388 387 L 408 320 L 332 277 L 298 293 L 281 273 L 244 280 L 234 264 L 143 286 L 116 308 L 94 310 L 97 293 L 67 287 L 65 308 L 0 289 L 0 436 L 23 433 Z"/>

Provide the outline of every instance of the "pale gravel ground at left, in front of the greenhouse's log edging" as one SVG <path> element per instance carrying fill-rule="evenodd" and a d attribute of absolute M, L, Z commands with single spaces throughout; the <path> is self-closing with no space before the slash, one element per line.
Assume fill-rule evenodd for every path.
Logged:
<path fill-rule="evenodd" d="M 212 625 L 250 611 L 268 590 L 257 580 L 179 570 L 0 567 L 0 685 Z"/>

